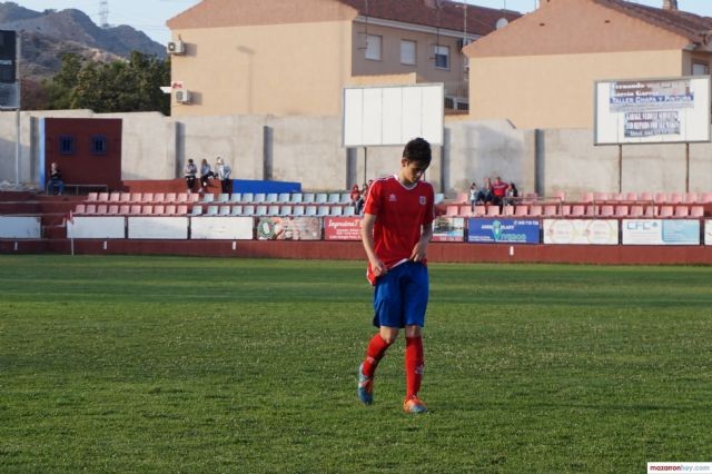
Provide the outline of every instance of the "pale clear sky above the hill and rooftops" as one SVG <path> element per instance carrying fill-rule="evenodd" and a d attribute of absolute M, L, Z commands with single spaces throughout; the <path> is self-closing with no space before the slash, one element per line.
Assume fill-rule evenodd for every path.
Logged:
<path fill-rule="evenodd" d="M 0 0 L 2 1 L 2 0 Z M 283 0 L 296 1 L 296 0 Z M 662 7 L 663 0 L 633 0 L 636 3 Z M 99 24 L 101 0 L 14 0 L 21 7 L 43 11 L 48 8 L 62 10 L 76 8 L 87 13 Z M 200 0 L 107 0 L 109 24 L 129 24 L 142 30 L 154 40 L 166 43 L 170 32 L 166 21 L 184 10 L 199 3 Z M 527 13 L 536 8 L 537 0 L 467 0 L 467 3 L 490 8 L 507 8 Z M 712 0 L 678 0 L 681 10 L 712 17 Z"/>

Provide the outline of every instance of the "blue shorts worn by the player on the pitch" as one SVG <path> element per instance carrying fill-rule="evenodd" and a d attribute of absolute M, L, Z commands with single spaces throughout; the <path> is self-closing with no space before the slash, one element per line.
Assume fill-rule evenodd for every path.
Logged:
<path fill-rule="evenodd" d="M 425 325 L 428 298 L 427 267 L 405 261 L 376 280 L 374 326 L 405 327 Z"/>

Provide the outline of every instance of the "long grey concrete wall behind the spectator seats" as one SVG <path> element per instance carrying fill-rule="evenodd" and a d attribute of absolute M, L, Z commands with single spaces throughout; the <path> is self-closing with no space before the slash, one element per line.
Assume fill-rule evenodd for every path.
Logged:
<path fill-rule="evenodd" d="M 340 146 L 338 117 L 164 117 L 160 113 L 93 115 L 90 110 L 21 113 L 20 181 L 39 181 L 39 119 L 123 119 L 122 178 L 181 176 L 188 158 L 214 165 L 220 156 L 238 179 L 300 181 L 304 189 L 348 189 L 398 170 L 402 147 Z M 0 181 L 14 182 L 14 112 L 0 112 Z M 586 191 L 712 190 L 712 144 L 593 145 L 587 129 L 518 130 L 507 121 L 446 121 L 426 178 L 448 196 L 473 180 L 501 176 L 522 192 L 575 199 Z M 350 158 L 349 158 L 350 156 Z"/>

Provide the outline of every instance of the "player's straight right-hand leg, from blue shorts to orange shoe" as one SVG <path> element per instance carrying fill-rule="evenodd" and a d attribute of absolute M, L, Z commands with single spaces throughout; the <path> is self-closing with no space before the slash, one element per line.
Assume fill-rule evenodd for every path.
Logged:
<path fill-rule="evenodd" d="M 408 413 L 424 413 L 427 408 L 418 398 L 425 366 L 422 327 L 428 299 L 427 268 L 424 265 L 411 265 L 411 278 L 404 293 L 406 396 L 403 408 Z"/>

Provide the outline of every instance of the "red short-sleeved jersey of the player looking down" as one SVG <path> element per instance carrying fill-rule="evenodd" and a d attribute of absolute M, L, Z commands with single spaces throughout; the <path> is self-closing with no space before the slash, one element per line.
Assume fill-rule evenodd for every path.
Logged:
<path fill-rule="evenodd" d="M 387 268 L 411 258 L 421 239 L 421 227 L 432 225 L 435 218 L 434 200 L 433 186 L 426 181 L 418 181 L 411 189 L 403 186 L 396 176 L 372 184 L 364 214 L 376 216 L 374 247 Z M 370 261 L 367 277 L 372 285 L 376 283 Z"/>

